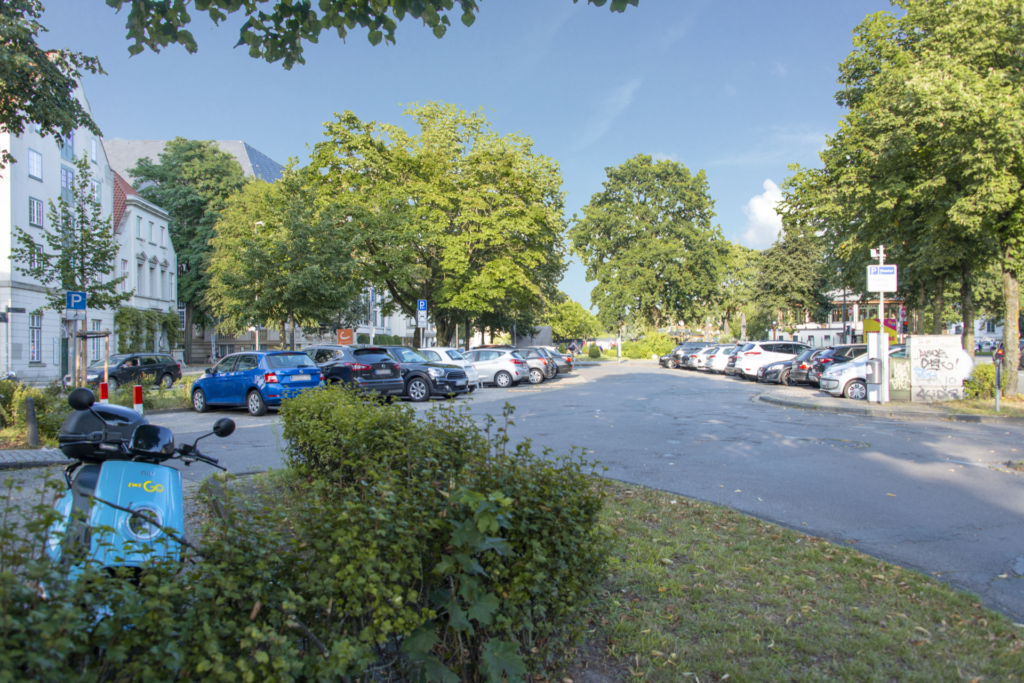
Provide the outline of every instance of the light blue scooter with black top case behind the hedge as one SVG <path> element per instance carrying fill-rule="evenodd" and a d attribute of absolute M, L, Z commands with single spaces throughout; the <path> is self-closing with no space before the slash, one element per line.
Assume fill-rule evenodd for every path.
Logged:
<path fill-rule="evenodd" d="M 50 558 L 112 568 L 179 559 L 181 544 L 167 537 L 180 539 L 184 530 L 181 473 L 164 463 L 201 462 L 226 471 L 200 453 L 198 443 L 211 434 L 230 435 L 234 422 L 217 420 L 210 434 L 175 447 L 170 429 L 151 425 L 127 408 L 97 405 L 89 389 L 75 389 L 68 403 L 75 412 L 65 420 L 58 442 L 75 462 L 65 469 L 68 493 L 56 504 L 59 521 L 50 528 L 46 548 Z"/>

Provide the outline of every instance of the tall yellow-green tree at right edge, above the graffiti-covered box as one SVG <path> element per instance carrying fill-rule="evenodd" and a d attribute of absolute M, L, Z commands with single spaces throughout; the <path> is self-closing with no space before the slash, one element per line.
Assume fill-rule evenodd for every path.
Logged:
<path fill-rule="evenodd" d="M 973 349 L 979 266 L 999 263 L 1004 317 L 1019 317 L 1024 8 L 1011 0 L 898 4 L 901 16 L 880 12 L 857 28 L 841 67 L 837 98 L 850 111 L 822 154 L 850 218 L 835 244 L 841 254 L 863 252 L 884 236 L 913 286 L 934 292 L 936 322 L 947 282 L 958 280 Z M 1006 326 L 1008 362 L 1017 362 L 1018 339 L 1018 326 Z M 1017 392 L 1016 374 L 1005 392 Z"/>

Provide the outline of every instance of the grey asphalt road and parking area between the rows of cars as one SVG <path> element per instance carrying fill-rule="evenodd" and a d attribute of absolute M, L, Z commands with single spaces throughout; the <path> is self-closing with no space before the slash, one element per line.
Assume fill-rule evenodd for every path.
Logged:
<path fill-rule="evenodd" d="M 606 476 L 728 505 L 916 568 L 1024 623 L 1024 426 L 785 410 L 764 385 L 651 364 L 604 364 L 538 386 L 456 400 L 482 421 L 516 408 L 509 434 L 538 449 L 585 447 Z M 432 401 L 437 402 L 437 401 Z M 427 404 L 416 404 L 419 413 Z M 238 423 L 205 451 L 231 471 L 282 464 L 274 414 L 178 413 L 152 420 L 190 440 L 221 415 Z M 212 468 L 193 466 L 189 479 Z"/>

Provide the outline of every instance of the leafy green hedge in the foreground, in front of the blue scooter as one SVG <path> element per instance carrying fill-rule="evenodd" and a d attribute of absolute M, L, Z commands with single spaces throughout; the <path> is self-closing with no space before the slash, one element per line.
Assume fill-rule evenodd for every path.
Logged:
<path fill-rule="evenodd" d="M 52 508 L 15 502 L 0 683 L 550 679 L 606 571 L 603 489 L 579 457 L 509 449 L 507 411 L 481 432 L 451 403 L 288 400 L 293 468 L 245 497 L 208 480 L 198 549 L 132 575 L 46 561 Z"/>

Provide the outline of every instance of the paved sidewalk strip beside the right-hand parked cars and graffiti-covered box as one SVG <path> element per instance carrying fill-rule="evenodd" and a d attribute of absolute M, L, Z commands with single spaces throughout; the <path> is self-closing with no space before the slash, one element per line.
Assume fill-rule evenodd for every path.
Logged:
<path fill-rule="evenodd" d="M 834 398 L 828 394 L 805 387 L 778 387 L 758 396 L 759 400 L 783 408 L 799 408 L 805 411 L 862 415 L 894 420 L 952 420 L 955 422 L 980 422 L 993 425 L 1024 425 L 1024 418 L 998 417 L 989 415 L 964 415 L 951 413 L 941 403 L 911 403 L 894 401 L 884 405 L 866 400 Z"/>

